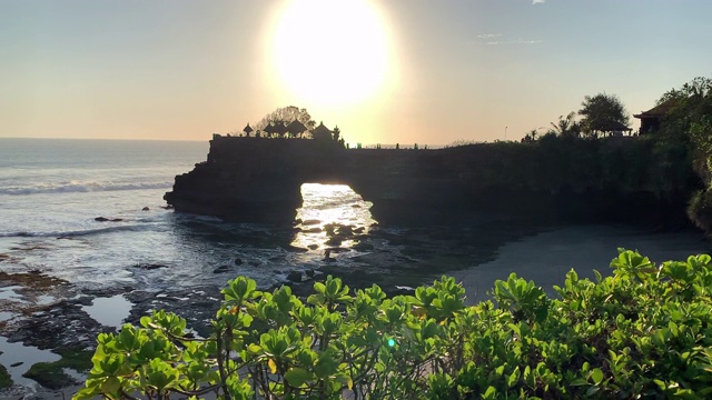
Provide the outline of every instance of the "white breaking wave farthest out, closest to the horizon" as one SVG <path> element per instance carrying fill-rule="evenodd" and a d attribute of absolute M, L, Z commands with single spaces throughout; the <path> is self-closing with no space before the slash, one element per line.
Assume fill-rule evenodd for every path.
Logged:
<path fill-rule="evenodd" d="M 172 182 L 169 181 L 142 183 L 71 181 L 62 183 L 47 183 L 24 188 L 0 188 L 0 194 L 28 196 L 43 193 L 85 193 L 118 190 L 169 189 L 171 186 Z"/>

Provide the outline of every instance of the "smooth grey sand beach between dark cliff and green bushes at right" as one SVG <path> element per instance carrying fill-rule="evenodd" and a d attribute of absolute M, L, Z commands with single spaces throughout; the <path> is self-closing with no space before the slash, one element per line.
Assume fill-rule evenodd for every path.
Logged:
<path fill-rule="evenodd" d="M 610 263 L 617 257 L 619 247 L 637 250 L 656 264 L 712 252 L 712 244 L 696 232 L 650 233 L 627 227 L 576 226 L 506 243 L 495 260 L 451 274 L 465 287 L 468 304 L 488 299 L 494 282 L 506 280 L 511 272 L 534 280 L 553 296 L 553 286 L 562 284 L 571 269 L 581 278 L 594 279 L 593 270 L 611 274 Z"/>

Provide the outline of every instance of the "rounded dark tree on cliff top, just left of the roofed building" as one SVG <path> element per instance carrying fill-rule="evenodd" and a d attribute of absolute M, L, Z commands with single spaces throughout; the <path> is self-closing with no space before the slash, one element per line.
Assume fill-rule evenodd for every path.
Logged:
<path fill-rule="evenodd" d="M 578 114 L 583 117 L 581 127 L 590 137 L 597 137 L 600 132 L 607 132 L 612 123 L 627 126 L 630 114 L 625 106 L 615 94 L 599 93 L 584 97 Z"/>

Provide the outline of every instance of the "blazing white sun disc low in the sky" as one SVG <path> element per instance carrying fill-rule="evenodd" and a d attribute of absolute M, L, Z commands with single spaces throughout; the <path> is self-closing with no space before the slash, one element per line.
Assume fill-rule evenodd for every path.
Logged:
<path fill-rule="evenodd" d="M 378 9 L 368 0 L 293 0 L 274 30 L 271 64 L 298 100 L 349 106 L 383 91 L 388 41 Z"/>

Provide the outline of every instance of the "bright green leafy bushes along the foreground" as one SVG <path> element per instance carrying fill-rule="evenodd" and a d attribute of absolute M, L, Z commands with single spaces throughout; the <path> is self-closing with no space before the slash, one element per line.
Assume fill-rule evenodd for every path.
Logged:
<path fill-rule="evenodd" d="M 393 298 L 329 277 L 306 302 L 239 277 L 209 338 L 162 311 L 100 334 L 75 398 L 710 398 L 710 257 L 619 252 L 613 276 L 572 270 L 557 298 L 513 273 L 473 307 L 446 277 Z"/>

